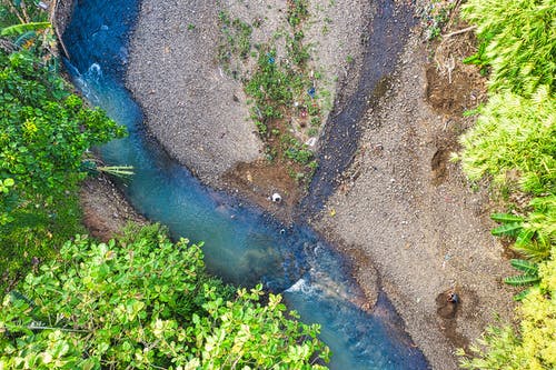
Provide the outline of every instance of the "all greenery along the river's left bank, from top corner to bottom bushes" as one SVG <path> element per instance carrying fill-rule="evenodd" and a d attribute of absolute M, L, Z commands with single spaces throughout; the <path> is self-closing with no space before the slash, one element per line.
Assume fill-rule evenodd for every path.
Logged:
<path fill-rule="evenodd" d="M 88 149 L 125 130 L 70 92 L 50 23 L 31 11 L 0 4 L 0 369 L 322 368 L 317 326 L 260 286 L 209 277 L 199 246 L 159 226 L 76 237 L 80 181 L 129 173 Z"/>

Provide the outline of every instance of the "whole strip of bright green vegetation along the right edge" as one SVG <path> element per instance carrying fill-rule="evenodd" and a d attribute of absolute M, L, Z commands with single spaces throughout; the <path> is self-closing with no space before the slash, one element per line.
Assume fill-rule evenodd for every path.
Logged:
<path fill-rule="evenodd" d="M 514 240 L 524 259 L 512 260 L 522 274 L 506 278 L 529 286 L 516 296 L 519 330 L 487 330 L 464 358 L 468 369 L 556 368 L 556 1 L 470 0 L 466 19 L 481 42 L 467 61 L 489 71 L 489 100 L 475 128 L 461 138 L 464 170 L 483 177 L 507 200 L 512 212 L 493 214 L 493 234 Z M 461 353 L 463 354 L 463 353 Z"/>

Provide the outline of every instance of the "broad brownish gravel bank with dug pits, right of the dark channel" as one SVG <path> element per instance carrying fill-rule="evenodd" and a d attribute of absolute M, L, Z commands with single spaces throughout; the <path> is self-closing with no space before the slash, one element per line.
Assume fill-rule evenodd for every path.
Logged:
<path fill-rule="evenodd" d="M 455 348 L 477 338 L 496 313 L 512 317 L 513 292 L 502 283 L 512 271 L 489 233 L 487 194 L 471 191 L 448 161 L 469 123 L 459 117 L 477 104 L 481 81 L 457 62 L 449 83 L 427 53 L 414 36 L 393 87 L 361 122 L 358 156 L 316 224 L 356 257 L 363 284 L 367 268 L 378 271 L 433 368 L 456 369 Z M 448 301 L 451 292 L 459 303 Z"/>

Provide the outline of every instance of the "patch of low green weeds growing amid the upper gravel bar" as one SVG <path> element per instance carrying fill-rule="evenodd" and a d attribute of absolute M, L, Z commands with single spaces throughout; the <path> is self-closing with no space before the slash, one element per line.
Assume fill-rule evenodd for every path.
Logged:
<path fill-rule="evenodd" d="M 322 99 L 316 93 L 319 73 L 310 71 L 309 46 L 304 43 L 304 22 L 309 17 L 308 1 L 288 1 L 288 29 L 275 34 L 264 44 L 251 44 L 254 28 L 239 19 L 220 12 L 222 42 L 219 62 L 228 73 L 244 82 L 250 98 L 250 119 L 266 143 L 269 161 L 284 163 L 297 180 L 308 183 L 317 167 L 314 152 L 300 138 L 315 137 L 322 120 Z M 279 54 L 277 43 L 284 42 L 285 54 Z M 255 68 L 241 70 L 254 58 Z"/>

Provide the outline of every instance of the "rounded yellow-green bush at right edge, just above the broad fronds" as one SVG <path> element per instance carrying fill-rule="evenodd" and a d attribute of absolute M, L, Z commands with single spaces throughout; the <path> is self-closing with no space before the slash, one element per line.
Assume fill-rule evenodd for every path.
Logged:
<path fill-rule="evenodd" d="M 533 99 L 512 92 L 489 98 L 476 126 L 460 139 L 463 167 L 471 180 L 490 174 L 506 183 L 515 171 L 524 191 L 556 187 L 556 99 L 539 89 Z"/>

